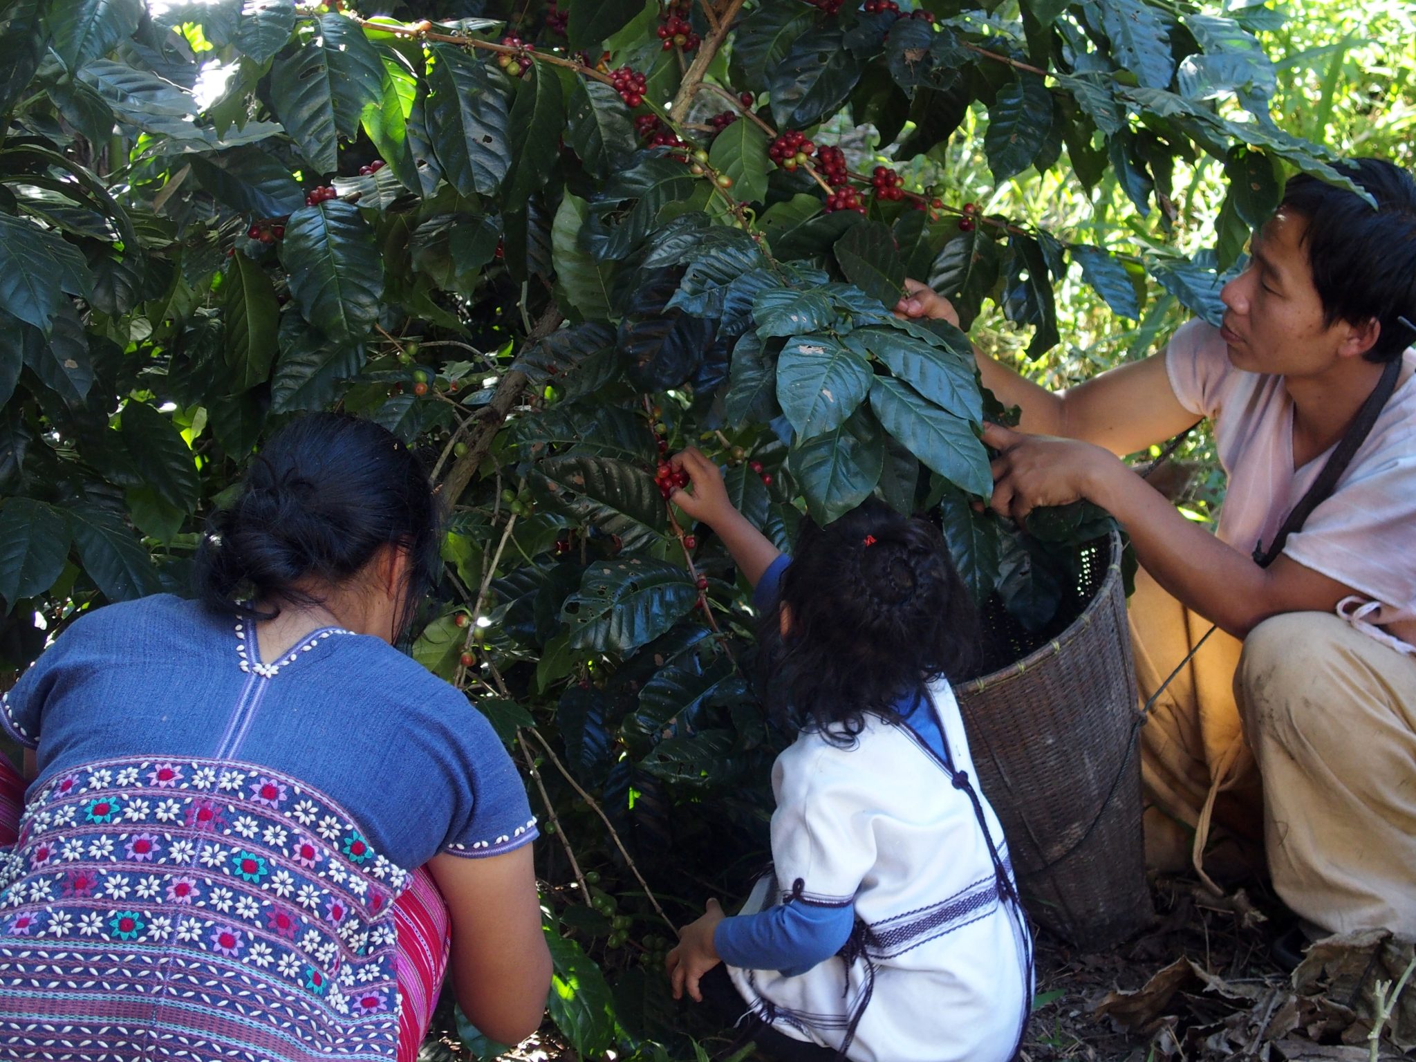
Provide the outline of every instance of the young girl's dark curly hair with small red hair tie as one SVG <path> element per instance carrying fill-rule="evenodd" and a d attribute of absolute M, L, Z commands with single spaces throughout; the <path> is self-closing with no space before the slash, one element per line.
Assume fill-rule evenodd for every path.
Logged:
<path fill-rule="evenodd" d="M 782 634 L 782 613 L 787 633 Z M 850 743 L 871 712 L 970 664 L 977 617 L 939 530 L 877 498 L 826 527 L 803 521 L 777 605 L 762 617 L 772 718 Z"/>

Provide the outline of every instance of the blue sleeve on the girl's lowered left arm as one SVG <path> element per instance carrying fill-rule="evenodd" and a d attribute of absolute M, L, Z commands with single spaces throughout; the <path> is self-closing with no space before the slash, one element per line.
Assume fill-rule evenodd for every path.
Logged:
<path fill-rule="evenodd" d="M 854 923 L 854 903 L 780 903 L 756 915 L 725 918 L 712 940 L 728 966 L 796 977 L 840 952 Z"/>

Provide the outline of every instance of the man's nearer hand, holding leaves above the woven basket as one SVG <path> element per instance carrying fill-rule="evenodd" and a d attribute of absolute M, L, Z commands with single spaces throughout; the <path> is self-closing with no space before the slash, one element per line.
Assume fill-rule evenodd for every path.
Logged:
<path fill-rule="evenodd" d="M 1034 508 L 1092 498 L 1100 477 L 1126 467 L 1100 446 L 1024 435 L 995 423 L 984 428 L 983 442 L 998 450 L 988 507 L 1020 524 Z"/>

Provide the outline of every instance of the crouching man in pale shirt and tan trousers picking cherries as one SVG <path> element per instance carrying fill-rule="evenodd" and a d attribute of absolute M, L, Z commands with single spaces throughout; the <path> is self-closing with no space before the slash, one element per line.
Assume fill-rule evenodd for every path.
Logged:
<path fill-rule="evenodd" d="M 991 507 L 1025 520 L 1087 498 L 1130 535 L 1143 700 L 1219 627 L 1143 729 L 1153 864 L 1174 868 L 1194 837 L 1199 868 L 1211 823 L 1240 841 L 1262 826 L 1303 919 L 1416 936 L 1416 181 L 1375 159 L 1349 174 L 1378 208 L 1290 180 L 1222 292 L 1223 327 L 1191 321 L 1165 353 L 1056 394 L 977 361 L 1022 409 L 1018 430 L 984 433 Z M 913 282 L 896 309 L 957 321 Z M 1260 565 L 1392 361 L 1395 391 L 1335 490 Z M 1218 534 L 1119 459 L 1205 418 L 1229 476 Z"/>

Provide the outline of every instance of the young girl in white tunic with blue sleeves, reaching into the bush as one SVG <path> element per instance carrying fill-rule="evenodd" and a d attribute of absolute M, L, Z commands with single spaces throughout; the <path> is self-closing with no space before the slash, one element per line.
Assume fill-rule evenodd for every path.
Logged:
<path fill-rule="evenodd" d="M 707 457 L 674 464 L 692 484 L 674 501 L 756 586 L 767 707 L 797 731 L 772 772 L 773 872 L 743 913 L 708 901 L 681 930 L 675 998 L 712 993 L 722 961 L 777 1058 L 1005 1062 L 1032 946 L 949 687 L 973 612 L 942 537 L 868 501 L 807 521 L 789 561 Z"/>

